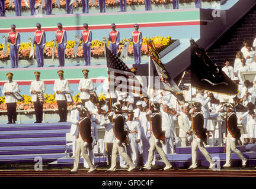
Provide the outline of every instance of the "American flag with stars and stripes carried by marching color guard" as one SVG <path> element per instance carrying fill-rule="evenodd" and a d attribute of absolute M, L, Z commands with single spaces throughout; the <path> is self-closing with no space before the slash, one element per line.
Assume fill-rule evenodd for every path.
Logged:
<path fill-rule="evenodd" d="M 107 47 L 105 47 L 105 51 L 110 91 L 117 90 L 120 92 L 139 93 L 146 96 L 146 90 L 143 89 L 139 80 L 137 80 L 135 74 L 130 71 L 129 67 Z"/>

